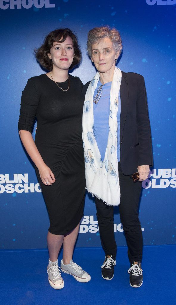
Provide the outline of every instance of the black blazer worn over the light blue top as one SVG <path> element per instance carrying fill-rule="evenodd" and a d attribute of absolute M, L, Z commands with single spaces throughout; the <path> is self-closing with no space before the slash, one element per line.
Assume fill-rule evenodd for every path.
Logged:
<path fill-rule="evenodd" d="M 124 175 L 131 175 L 138 165 L 153 166 L 152 141 L 144 77 L 121 72 L 120 167 Z M 84 95 L 89 84 L 84 85 Z"/>

